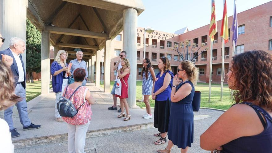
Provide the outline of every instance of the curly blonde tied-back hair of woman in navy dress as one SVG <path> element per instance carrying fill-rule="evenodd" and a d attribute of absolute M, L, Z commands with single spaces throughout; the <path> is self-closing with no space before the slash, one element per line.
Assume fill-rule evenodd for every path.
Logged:
<path fill-rule="evenodd" d="M 188 79 L 193 83 L 193 85 L 197 85 L 199 76 L 198 67 L 194 66 L 193 62 L 191 61 L 182 61 L 181 69 L 185 70 L 186 74 L 188 75 Z"/>

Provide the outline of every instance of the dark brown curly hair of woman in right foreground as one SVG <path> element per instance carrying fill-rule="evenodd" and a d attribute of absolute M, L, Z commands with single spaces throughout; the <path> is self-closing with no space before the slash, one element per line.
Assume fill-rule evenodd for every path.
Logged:
<path fill-rule="evenodd" d="M 272 56 L 263 50 L 250 50 L 233 57 L 233 102 L 252 102 L 272 110 Z"/>

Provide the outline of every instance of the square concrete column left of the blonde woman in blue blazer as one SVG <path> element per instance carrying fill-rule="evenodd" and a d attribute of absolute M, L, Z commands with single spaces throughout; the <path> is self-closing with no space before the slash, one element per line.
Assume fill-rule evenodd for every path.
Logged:
<path fill-rule="evenodd" d="M 41 32 L 41 93 L 49 93 L 50 79 L 49 32 Z"/>

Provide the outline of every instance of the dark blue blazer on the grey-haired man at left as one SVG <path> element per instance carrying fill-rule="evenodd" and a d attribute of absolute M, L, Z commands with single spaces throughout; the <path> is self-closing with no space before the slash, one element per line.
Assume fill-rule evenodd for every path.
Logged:
<path fill-rule="evenodd" d="M 19 80 L 19 71 L 18 71 L 18 66 L 17 66 L 17 63 L 15 61 L 15 58 L 14 58 L 13 54 L 11 53 L 10 48 L 8 48 L 8 49 L 3 50 L 3 51 L 0 52 L 0 59 L 2 60 L 1 54 L 8 55 L 8 56 L 11 56 L 13 58 L 13 63 L 11 64 L 11 71 L 13 73 L 13 78 L 15 80 L 14 86 L 16 87 L 16 85 L 18 83 L 18 80 Z M 22 55 L 19 56 L 19 57 L 21 59 L 22 66 L 23 66 L 23 77 L 24 77 L 24 81 L 22 82 L 22 86 L 25 89 L 25 87 L 26 87 L 26 73 L 25 73 L 25 70 L 24 70 L 24 64 L 23 64 Z"/>

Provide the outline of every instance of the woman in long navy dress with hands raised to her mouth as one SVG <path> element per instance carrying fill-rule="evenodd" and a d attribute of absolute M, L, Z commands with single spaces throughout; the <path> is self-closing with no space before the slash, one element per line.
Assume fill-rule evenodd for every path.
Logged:
<path fill-rule="evenodd" d="M 173 79 L 171 109 L 168 125 L 168 145 L 157 152 L 169 153 L 173 145 L 187 153 L 193 143 L 193 107 L 194 86 L 198 81 L 198 68 L 193 62 L 182 61 L 178 74 Z M 181 79 L 181 80 L 180 80 Z"/>

